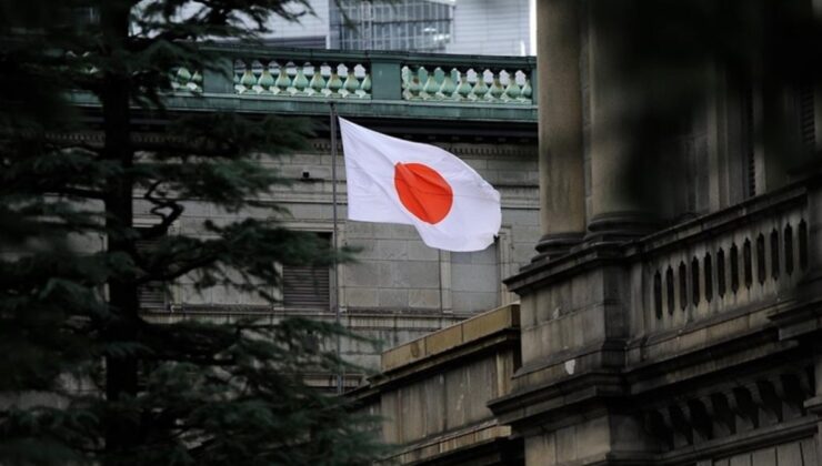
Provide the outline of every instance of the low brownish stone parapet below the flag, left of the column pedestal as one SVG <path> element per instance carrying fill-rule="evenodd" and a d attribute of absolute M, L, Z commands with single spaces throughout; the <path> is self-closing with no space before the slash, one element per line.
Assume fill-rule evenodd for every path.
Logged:
<path fill-rule="evenodd" d="M 505 464 L 521 446 L 485 407 L 519 366 L 519 305 L 480 314 L 382 354 L 382 372 L 349 392 L 384 419 L 398 464 Z"/>

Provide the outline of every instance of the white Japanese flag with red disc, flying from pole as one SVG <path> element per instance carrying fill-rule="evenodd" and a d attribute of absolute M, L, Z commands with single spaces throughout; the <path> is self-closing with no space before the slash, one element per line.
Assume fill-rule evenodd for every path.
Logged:
<path fill-rule="evenodd" d="M 481 251 L 500 231 L 500 193 L 455 155 L 340 119 L 348 217 L 414 225 L 445 251 Z"/>

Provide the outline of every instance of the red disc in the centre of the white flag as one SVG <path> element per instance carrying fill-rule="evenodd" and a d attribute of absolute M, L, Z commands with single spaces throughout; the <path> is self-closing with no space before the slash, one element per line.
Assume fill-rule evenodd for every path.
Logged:
<path fill-rule="evenodd" d="M 394 189 L 409 212 L 432 225 L 448 215 L 454 202 L 451 185 L 437 170 L 422 163 L 397 163 Z"/>

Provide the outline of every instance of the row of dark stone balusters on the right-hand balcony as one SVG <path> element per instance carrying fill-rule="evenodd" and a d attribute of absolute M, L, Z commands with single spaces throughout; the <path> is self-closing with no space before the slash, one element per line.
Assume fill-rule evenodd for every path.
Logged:
<path fill-rule="evenodd" d="M 808 267 L 806 209 L 802 190 L 780 192 L 645 239 L 645 330 L 783 300 Z"/>

